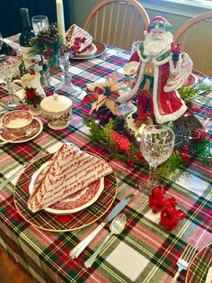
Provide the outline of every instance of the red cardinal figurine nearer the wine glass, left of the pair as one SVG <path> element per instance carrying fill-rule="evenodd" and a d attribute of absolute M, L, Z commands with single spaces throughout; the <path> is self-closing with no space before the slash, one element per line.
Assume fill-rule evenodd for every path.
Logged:
<path fill-rule="evenodd" d="M 171 197 L 169 199 L 164 198 L 163 188 L 161 186 L 154 187 L 152 192 L 149 194 L 149 206 L 152 208 L 153 213 L 156 214 L 166 205 L 176 205 L 176 199 Z"/>

